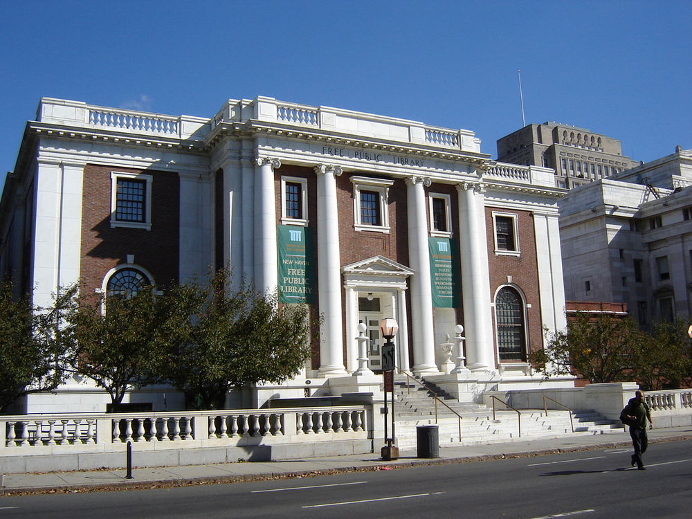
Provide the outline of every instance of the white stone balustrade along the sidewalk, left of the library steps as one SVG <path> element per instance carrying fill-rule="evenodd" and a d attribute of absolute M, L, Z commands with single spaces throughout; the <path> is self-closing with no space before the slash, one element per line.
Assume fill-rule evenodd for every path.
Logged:
<path fill-rule="evenodd" d="M 261 439 L 265 444 L 372 437 L 366 406 L 329 408 L 287 408 L 217 411 L 139 412 L 122 414 L 17 415 L 0 416 L 0 455 L 77 452 L 80 448 L 100 445 L 147 444 L 150 448 L 171 442 L 176 448 L 185 444 L 233 446 L 241 439 Z M 306 441 L 306 440 L 302 440 Z M 211 442 L 211 443 L 210 443 Z M 194 444 L 194 445 L 193 445 Z M 158 447 L 161 448 L 161 447 Z"/>

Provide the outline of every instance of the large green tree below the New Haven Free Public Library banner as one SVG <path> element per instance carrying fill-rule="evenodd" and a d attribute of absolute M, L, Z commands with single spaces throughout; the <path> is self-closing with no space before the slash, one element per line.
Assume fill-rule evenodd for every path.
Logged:
<path fill-rule="evenodd" d="M 311 354 L 307 306 L 279 305 L 248 283 L 229 291 L 229 279 L 224 269 L 192 286 L 201 304 L 188 343 L 161 359 L 162 378 L 195 408 L 223 407 L 233 387 L 284 381 Z"/>

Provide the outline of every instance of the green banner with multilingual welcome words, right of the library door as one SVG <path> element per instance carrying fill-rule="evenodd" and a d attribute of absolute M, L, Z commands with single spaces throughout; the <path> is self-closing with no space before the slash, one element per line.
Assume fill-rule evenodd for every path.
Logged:
<path fill-rule="evenodd" d="M 430 249 L 430 277 L 432 278 L 432 306 L 459 308 L 459 251 L 453 239 L 428 238 Z"/>

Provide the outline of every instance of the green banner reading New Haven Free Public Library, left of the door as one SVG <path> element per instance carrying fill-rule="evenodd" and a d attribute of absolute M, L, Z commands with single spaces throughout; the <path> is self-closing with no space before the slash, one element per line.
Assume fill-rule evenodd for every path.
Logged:
<path fill-rule="evenodd" d="M 312 233 L 307 227 L 279 226 L 279 301 L 313 303 Z"/>

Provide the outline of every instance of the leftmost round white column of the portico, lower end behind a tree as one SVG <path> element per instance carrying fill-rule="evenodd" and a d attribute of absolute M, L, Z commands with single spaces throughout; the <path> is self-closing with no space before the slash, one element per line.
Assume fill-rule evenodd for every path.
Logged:
<path fill-rule="evenodd" d="M 257 158 L 255 171 L 255 289 L 273 293 L 279 284 L 274 170 L 278 158 Z"/>

